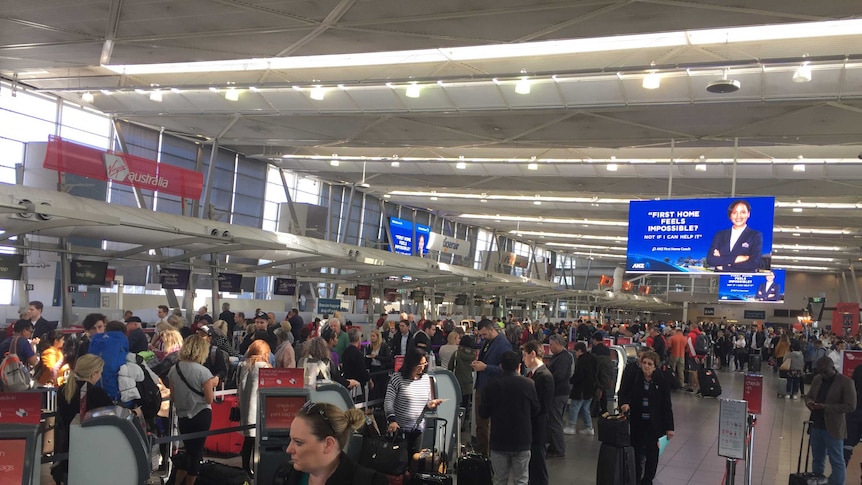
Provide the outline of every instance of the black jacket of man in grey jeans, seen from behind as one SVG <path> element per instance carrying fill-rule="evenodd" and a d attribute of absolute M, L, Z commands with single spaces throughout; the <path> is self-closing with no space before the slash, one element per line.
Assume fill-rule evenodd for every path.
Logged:
<path fill-rule="evenodd" d="M 479 392 L 482 393 L 479 416 L 491 419 L 491 449 L 529 450 L 533 442 L 532 417 L 540 410 L 532 379 L 504 371 Z M 527 416 L 531 419 L 525 419 Z"/>

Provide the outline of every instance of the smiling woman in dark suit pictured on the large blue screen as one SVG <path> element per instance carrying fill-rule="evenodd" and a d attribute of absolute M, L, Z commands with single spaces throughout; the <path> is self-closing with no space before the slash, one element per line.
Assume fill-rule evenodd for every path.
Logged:
<path fill-rule="evenodd" d="M 751 204 L 735 200 L 727 208 L 730 229 L 715 233 L 706 263 L 718 272 L 751 272 L 760 268 L 763 255 L 763 234 L 748 227 Z"/>

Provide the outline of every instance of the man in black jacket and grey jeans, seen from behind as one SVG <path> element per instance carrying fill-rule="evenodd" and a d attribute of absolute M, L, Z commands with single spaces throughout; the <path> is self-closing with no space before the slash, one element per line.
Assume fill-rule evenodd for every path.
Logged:
<path fill-rule="evenodd" d="M 484 386 L 483 399 L 478 403 L 479 416 L 491 423 L 494 483 L 507 483 L 510 475 L 514 483 L 526 483 L 529 479 L 532 421 L 541 406 L 536 385 L 518 373 L 520 367 L 520 355 L 511 350 L 503 352 L 500 374 Z M 525 419 L 527 416 L 530 419 Z"/>

